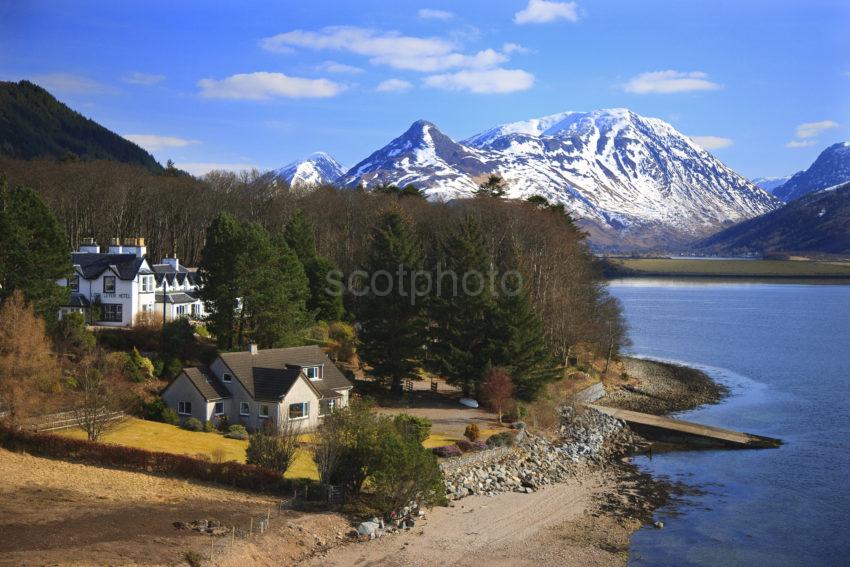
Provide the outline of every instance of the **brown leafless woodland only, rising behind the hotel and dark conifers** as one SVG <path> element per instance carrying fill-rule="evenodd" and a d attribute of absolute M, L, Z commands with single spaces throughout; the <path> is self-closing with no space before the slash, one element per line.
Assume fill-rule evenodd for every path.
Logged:
<path fill-rule="evenodd" d="M 623 339 L 616 304 L 584 236 L 569 216 L 543 202 L 479 197 L 433 203 L 417 196 L 320 187 L 291 192 L 261 175 L 218 173 L 203 180 L 152 174 L 114 162 L 55 163 L 0 159 L 0 175 L 11 184 L 39 193 L 64 227 L 69 246 L 93 236 L 100 243 L 113 237 L 144 236 L 155 261 L 176 252 L 181 263 L 201 262 L 207 229 L 223 212 L 238 221 L 260 225 L 272 238 L 283 237 L 296 211 L 314 227 L 317 253 L 338 266 L 344 276 L 367 269 L 375 229 L 388 210 L 409 220 L 422 246 L 421 264 L 457 264 L 453 241 L 470 234 L 460 227 L 481 227 L 474 235 L 475 260 L 482 265 L 516 267 L 551 355 L 563 362 L 579 343 L 606 351 Z M 250 252 L 245 255 L 250 260 Z M 349 313 L 362 313 L 359 298 L 346 293 Z M 519 300 L 521 301 L 522 298 Z M 488 300 L 489 301 L 489 300 Z M 521 312 L 522 305 L 505 309 Z M 497 327 L 498 321 L 489 324 Z"/>

